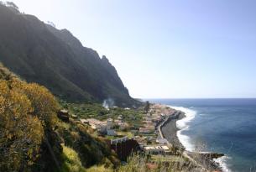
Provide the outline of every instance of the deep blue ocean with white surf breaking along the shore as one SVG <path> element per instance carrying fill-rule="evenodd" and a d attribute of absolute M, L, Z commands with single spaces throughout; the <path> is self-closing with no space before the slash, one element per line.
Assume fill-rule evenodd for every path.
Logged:
<path fill-rule="evenodd" d="M 223 171 L 256 171 L 256 99 L 151 99 L 185 112 L 178 121 L 188 150 L 226 154 Z"/>

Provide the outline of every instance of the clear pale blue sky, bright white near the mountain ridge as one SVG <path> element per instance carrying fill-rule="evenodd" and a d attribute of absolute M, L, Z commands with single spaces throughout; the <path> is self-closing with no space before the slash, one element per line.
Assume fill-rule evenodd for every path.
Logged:
<path fill-rule="evenodd" d="M 133 97 L 256 97 L 254 0 L 13 3 L 106 55 Z"/>

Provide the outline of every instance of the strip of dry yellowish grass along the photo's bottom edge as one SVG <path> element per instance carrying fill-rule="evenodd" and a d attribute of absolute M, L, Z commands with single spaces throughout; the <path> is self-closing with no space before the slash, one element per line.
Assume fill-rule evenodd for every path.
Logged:
<path fill-rule="evenodd" d="M 138 155 L 133 154 L 128 159 L 128 164 L 119 166 L 118 169 L 102 165 L 94 165 L 85 169 L 74 149 L 63 146 L 65 163 L 61 167 L 63 172 L 189 172 L 198 171 L 198 167 L 182 156 L 174 155 Z M 199 170 L 200 171 L 200 170 Z"/>

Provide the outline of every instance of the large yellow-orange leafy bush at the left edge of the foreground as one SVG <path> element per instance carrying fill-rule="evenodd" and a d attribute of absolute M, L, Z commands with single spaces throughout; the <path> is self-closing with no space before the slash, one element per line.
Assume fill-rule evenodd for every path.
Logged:
<path fill-rule="evenodd" d="M 0 168 L 28 170 L 39 158 L 46 127 L 54 125 L 55 97 L 43 86 L 0 71 Z"/>

